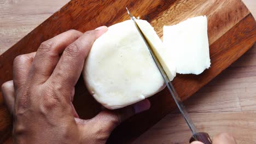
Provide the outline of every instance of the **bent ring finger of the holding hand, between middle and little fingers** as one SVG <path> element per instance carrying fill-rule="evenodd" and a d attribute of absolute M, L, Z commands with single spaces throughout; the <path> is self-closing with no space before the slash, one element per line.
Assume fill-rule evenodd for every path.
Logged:
<path fill-rule="evenodd" d="M 14 59 L 13 62 L 13 83 L 14 88 L 18 89 L 24 85 L 28 72 L 30 71 L 36 52 L 20 55 Z"/>

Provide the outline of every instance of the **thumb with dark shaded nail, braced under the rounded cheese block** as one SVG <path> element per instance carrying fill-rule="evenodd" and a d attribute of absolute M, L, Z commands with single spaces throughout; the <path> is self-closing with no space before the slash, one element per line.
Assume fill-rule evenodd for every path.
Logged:
<path fill-rule="evenodd" d="M 82 120 L 75 118 L 79 124 L 82 134 L 82 141 L 85 137 L 91 137 L 90 140 L 106 142 L 110 133 L 125 119 L 135 115 L 136 113 L 146 111 L 150 108 L 148 99 L 139 101 L 138 103 L 124 107 L 118 110 L 104 110 L 90 120 Z M 89 141 L 86 141 L 89 142 Z"/>

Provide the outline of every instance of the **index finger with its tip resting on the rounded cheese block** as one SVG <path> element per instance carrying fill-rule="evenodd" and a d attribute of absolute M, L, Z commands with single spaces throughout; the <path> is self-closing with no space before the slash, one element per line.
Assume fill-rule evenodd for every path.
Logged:
<path fill-rule="evenodd" d="M 88 55 L 92 44 L 106 31 L 106 26 L 88 31 L 75 40 L 74 43 L 67 46 L 53 74 L 50 76 L 49 82 L 59 84 L 61 87 L 66 86 L 65 89 L 74 87 L 82 72 L 85 57 Z"/>

